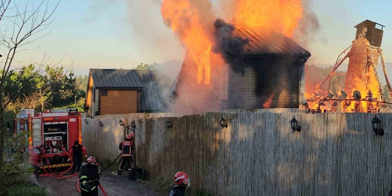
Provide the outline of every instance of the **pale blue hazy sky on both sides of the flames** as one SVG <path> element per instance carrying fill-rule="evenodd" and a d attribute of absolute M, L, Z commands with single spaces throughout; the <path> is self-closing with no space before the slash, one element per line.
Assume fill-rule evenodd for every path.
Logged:
<path fill-rule="evenodd" d="M 29 45 L 38 49 L 19 53 L 18 60 L 38 60 L 46 52 L 51 54 L 53 62 L 62 59 L 60 64 L 66 68 L 73 65 L 78 75 L 88 74 L 90 68 L 132 69 L 140 63 L 182 60 L 184 49 L 164 25 L 160 2 L 62 0 L 48 36 Z M 218 0 L 213 3 L 218 4 Z M 49 4 L 53 6 L 54 0 Z M 337 56 L 354 40 L 354 26 L 366 19 L 386 26 L 381 48 L 385 61 L 392 62 L 392 1 L 379 0 L 377 4 L 371 0 L 311 2 L 320 30 L 305 47 L 312 54 L 309 63 L 334 64 Z"/>

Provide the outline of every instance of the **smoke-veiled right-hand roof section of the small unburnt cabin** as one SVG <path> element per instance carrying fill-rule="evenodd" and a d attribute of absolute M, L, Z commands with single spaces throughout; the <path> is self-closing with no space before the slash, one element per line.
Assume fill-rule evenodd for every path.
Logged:
<path fill-rule="evenodd" d="M 134 70 L 142 82 L 140 111 L 162 112 L 167 110 L 168 92 L 174 78 L 156 70 Z"/>

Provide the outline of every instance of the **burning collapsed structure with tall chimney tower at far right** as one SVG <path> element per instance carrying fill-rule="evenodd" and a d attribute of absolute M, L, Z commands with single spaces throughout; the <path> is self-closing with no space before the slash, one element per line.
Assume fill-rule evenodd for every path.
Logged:
<path fill-rule="evenodd" d="M 312 95 L 307 93 L 307 96 L 309 97 L 309 108 L 314 112 L 321 110 L 376 113 L 377 109 L 385 103 L 382 96 L 383 90 L 381 89 L 381 84 L 376 71 L 379 56 L 381 56 L 383 67 L 385 67 L 380 48 L 383 30 L 377 29 L 375 27 L 376 24 L 377 23 L 370 20 L 365 20 L 364 22 L 356 25 L 355 27 L 358 29 L 356 39 L 352 42 L 353 44 L 350 46 L 350 51 L 348 51 L 343 58 L 339 59 L 340 56 L 338 57 L 339 60 L 336 62 L 331 73 L 327 76 L 327 78 L 325 78 L 325 80 L 316 86 Z M 383 27 L 383 25 L 381 26 Z M 345 51 L 343 51 L 343 53 L 345 53 Z M 328 85 L 328 95 L 321 97 L 318 94 L 320 87 L 328 79 L 332 79 L 336 69 L 346 58 L 350 58 L 350 60 L 348 62 L 345 90 L 340 91 L 340 94 L 336 95 L 339 97 L 338 99 L 334 99 L 335 95 L 330 96 L 330 85 Z M 385 77 L 389 86 L 386 73 Z M 347 93 L 351 96 L 347 97 Z M 321 104 L 320 102 L 332 103 L 335 107 L 327 107 L 327 105 Z M 340 107 L 338 107 L 339 105 Z"/>

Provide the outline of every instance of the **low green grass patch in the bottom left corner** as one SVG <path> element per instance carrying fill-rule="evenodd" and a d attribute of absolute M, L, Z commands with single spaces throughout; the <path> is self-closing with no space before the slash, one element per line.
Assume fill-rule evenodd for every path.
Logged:
<path fill-rule="evenodd" d="M 24 183 L 7 188 L 7 196 L 46 196 L 45 189 L 32 183 Z"/>

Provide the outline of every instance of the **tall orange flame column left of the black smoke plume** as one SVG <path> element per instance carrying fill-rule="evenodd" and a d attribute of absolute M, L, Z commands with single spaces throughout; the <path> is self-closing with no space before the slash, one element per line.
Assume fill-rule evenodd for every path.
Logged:
<path fill-rule="evenodd" d="M 189 0 L 163 0 L 161 14 L 196 63 L 197 83 L 209 84 L 212 41 L 203 30 L 197 11 L 191 7 Z"/>

